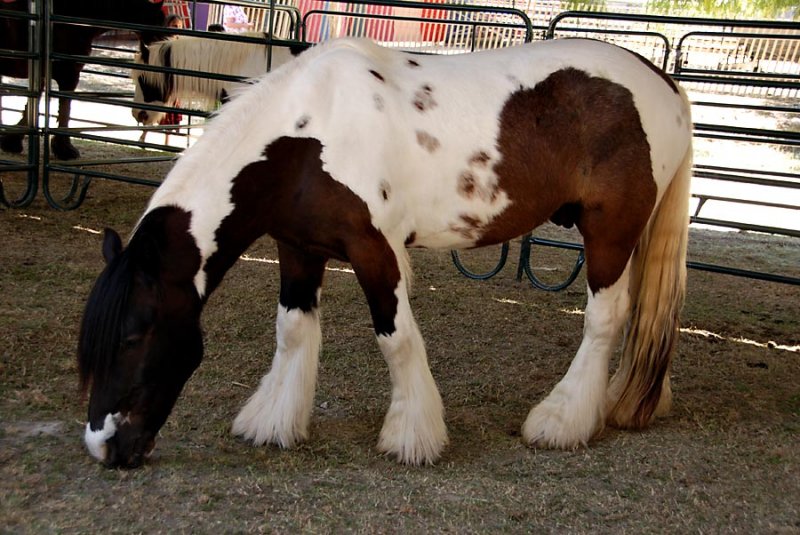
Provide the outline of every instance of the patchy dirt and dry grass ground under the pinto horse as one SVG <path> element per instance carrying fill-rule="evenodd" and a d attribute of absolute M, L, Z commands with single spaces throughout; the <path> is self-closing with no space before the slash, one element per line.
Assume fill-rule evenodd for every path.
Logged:
<path fill-rule="evenodd" d="M 77 329 L 102 268 L 97 232 L 129 233 L 150 193 L 98 180 L 74 212 L 41 200 L 0 211 L 2 530 L 800 532 L 800 288 L 690 271 L 672 413 L 577 451 L 531 450 L 520 425 L 566 371 L 585 295 L 582 277 L 555 294 L 517 282 L 516 244 L 487 282 L 462 277 L 446 252 L 412 254 L 412 305 L 450 432 L 438 465 L 398 466 L 374 449 L 389 377 L 344 271 L 330 271 L 323 292 L 310 440 L 281 451 L 230 435 L 271 359 L 278 290 L 275 264 L 240 261 L 210 300 L 205 361 L 154 460 L 101 467 L 82 444 Z M 691 247 L 693 260 L 800 276 L 797 240 L 693 231 Z M 486 265 L 496 253 L 464 259 Z M 248 255 L 276 257 L 269 239 Z M 572 258 L 535 255 L 553 279 Z"/>

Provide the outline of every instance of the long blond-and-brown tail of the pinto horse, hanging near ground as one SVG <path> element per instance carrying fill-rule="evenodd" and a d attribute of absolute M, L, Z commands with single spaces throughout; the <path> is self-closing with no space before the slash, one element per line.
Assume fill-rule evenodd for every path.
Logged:
<path fill-rule="evenodd" d="M 607 422 L 615 427 L 644 428 L 672 403 L 670 361 L 686 293 L 691 177 L 690 143 L 631 259 L 631 316 L 608 388 Z"/>

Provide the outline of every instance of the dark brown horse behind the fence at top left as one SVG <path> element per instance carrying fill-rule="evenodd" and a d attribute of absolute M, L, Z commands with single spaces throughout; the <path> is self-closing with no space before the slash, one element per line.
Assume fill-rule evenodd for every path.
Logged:
<path fill-rule="evenodd" d="M 27 12 L 28 0 L 11 0 L 3 3 L 2 9 Z M 53 0 L 53 12 L 60 16 L 80 17 L 95 20 L 108 20 L 148 26 L 163 26 L 164 13 L 161 1 L 150 0 Z M 92 26 L 54 24 L 52 50 L 60 54 L 76 54 L 88 56 L 91 53 L 92 41 L 107 32 L 105 28 Z M 11 50 L 28 50 L 28 21 L 0 17 L 0 48 Z M 156 40 L 157 34 L 143 32 L 142 42 Z M 44 62 L 42 68 L 44 69 Z M 58 83 L 60 91 L 74 91 L 78 87 L 78 79 L 82 63 L 68 60 L 55 60 L 52 63 L 52 78 Z M 0 76 L 11 78 L 28 78 L 28 61 L 26 59 L 0 58 Z M 44 77 L 43 77 L 44 78 Z M 43 88 L 39 88 L 40 91 Z M 69 126 L 71 100 L 60 98 L 58 101 L 58 126 Z M 20 126 L 27 126 L 27 105 L 22 115 Z M 5 152 L 20 153 L 23 135 L 5 134 L 0 137 L 0 148 Z M 66 134 L 54 135 L 51 147 L 53 154 L 61 160 L 73 160 L 80 157 L 80 152 Z"/>

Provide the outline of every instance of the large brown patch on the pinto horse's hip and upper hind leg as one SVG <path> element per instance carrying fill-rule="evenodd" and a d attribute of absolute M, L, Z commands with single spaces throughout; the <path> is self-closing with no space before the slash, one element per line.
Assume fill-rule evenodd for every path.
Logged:
<path fill-rule="evenodd" d="M 574 68 L 517 91 L 500 114 L 493 170 L 510 204 L 477 245 L 500 243 L 551 217 L 584 236 L 589 287 L 621 275 L 656 199 L 650 146 L 631 92 Z"/>

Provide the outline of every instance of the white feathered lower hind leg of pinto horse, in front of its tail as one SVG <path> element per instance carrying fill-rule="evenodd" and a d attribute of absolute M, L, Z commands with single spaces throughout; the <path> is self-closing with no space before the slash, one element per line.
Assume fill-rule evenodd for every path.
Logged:
<path fill-rule="evenodd" d="M 575 448 L 602 429 L 608 363 L 630 307 L 629 273 L 628 266 L 610 287 L 589 290 L 578 353 L 553 391 L 528 414 L 522 426 L 528 444 Z"/>

